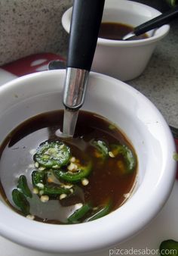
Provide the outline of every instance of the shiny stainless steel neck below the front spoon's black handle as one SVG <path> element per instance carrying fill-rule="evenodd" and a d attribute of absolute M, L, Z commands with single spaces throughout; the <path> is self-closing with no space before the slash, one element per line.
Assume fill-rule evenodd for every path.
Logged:
<path fill-rule="evenodd" d="M 66 108 L 71 110 L 81 108 L 84 103 L 88 76 L 88 70 L 67 67 L 63 92 L 63 105 Z"/>

